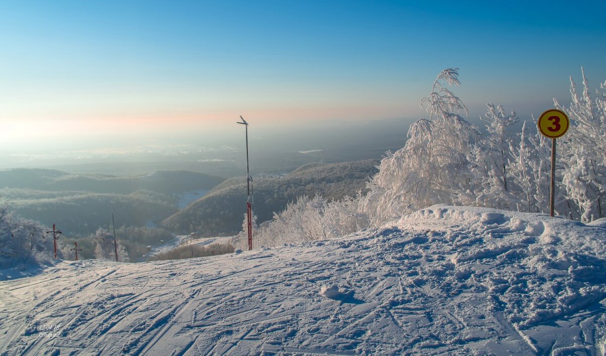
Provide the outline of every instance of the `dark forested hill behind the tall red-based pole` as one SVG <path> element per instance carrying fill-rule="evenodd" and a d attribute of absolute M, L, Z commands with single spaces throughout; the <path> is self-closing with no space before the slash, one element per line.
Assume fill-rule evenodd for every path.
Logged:
<path fill-rule="evenodd" d="M 258 223 L 270 220 L 274 212 L 282 211 L 288 202 L 302 195 L 319 194 L 327 199 L 356 196 L 358 191 L 365 191 L 365 183 L 376 174 L 378 163 L 378 160 L 310 163 L 285 176 L 253 177 Z M 162 224 L 182 233 L 234 234 L 242 229 L 245 202 L 246 178 L 228 179 Z"/>

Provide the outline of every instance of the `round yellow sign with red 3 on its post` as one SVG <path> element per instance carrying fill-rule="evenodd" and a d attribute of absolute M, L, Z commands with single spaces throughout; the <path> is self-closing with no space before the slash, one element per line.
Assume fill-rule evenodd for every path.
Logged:
<path fill-rule="evenodd" d="M 554 215 L 554 203 L 556 196 L 556 139 L 564 136 L 568 127 L 570 126 L 570 120 L 564 111 L 558 109 L 545 110 L 544 113 L 539 116 L 537 122 L 539 131 L 545 137 L 551 139 L 551 185 L 549 192 L 549 215 Z"/>

